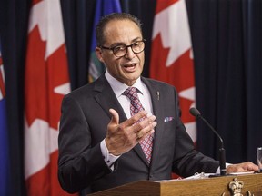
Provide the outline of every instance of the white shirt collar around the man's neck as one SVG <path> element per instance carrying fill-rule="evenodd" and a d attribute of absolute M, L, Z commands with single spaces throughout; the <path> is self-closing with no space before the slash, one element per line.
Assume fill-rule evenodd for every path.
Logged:
<path fill-rule="evenodd" d="M 107 70 L 105 76 L 106 76 L 106 80 L 108 81 L 114 93 L 116 94 L 117 98 L 126 91 L 126 88 L 129 87 L 128 85 L 126 85 L 126 83 L 121 83 L 118 80 L 116 80 L 116 78 L 114 78 L 110 73 L 108 73 Z M 144 85 L 141 81 L 141 77 L 137 78 L 136 83 L 134 83 L 132 87 L 136 87 L 136 89 L 138 89 L 138 92 L 143 94 Z"/>

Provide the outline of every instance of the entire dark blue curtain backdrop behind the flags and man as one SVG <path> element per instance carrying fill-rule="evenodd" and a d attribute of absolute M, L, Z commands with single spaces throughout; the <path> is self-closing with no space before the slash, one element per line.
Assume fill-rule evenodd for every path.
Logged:
<path fill-rule="evenodd" d="M 120 0 L 122 11 L 143 23 L 148 76 L 156 0 Z M 24 68 L 30 0 L 0 1 L 5 62 L 10 195 L 24 186 Z M 87 83 L 96 0 L 61 0 L 72 89 Z M 194 49 L 196 106 L 221 134 L 227 162 L 256 162 L 262 146 L 262 1 L 186 0 Z M 175 34 L 176 36 L 176 34 Z M 186 79 L 185 79 L 186 80 Z M 217 158 L 217 138 L 197 123 L 197 148 Z"/>

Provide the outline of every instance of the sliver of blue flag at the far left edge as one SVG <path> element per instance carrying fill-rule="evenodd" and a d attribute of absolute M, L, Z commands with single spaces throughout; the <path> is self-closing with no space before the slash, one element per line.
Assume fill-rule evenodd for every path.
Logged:
<path fill-rule="evenodd" d="M 0 195 L 8 195 L 8 134 L 5 110 L 5 72 L 0 43 Z"/>

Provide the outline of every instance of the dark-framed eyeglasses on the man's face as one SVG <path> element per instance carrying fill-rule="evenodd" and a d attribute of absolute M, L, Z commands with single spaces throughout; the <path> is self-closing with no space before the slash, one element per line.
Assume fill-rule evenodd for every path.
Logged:
<path fill-rule="evenodd" d="M 100 46 L 100 48 L 103 48 L 103 49 L 106 49 L 106 50 L 112 50 L 113 54 L 116 57 L 123 57 L 123 56 L 126 55 L 128 47 L 131 47 L 133 53 L 135 53 L 135 54 L 139 54 L 142 51 L 144 51 L 145 42 L 146 42 L 146 40 L 144 39 L 144 40 L 141 40 L 141 41 L 136 41 L 135 43 L 129 44 L 129 45 L 119 44 L 119 45 L 116 45 L 114 47 Z"/>

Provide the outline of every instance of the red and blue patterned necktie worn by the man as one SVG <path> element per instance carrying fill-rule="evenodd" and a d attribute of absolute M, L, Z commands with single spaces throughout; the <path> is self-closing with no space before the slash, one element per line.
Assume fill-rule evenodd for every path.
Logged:
<path fill-rule="evenodd" d="M 136 113 L 139 113 L 140 111 L 143 111 L 144 108 L 142 104 L 140 103 L 140 100 L 138 98 L 138 94 L 136 93 L 136 87 L 128 87 L 126 91 L 123 93 L 130 99 L 130 113 L 131 116 L 135 115 Z M 143 119 L 140 119 L 142 121 Z M 147 161 L 150 163 L 151 161 L 151 152 L 153 148 L 153 136 L 148 135 L 146 138 L 139 142 L 143 152 L 146 155 Z"/>

